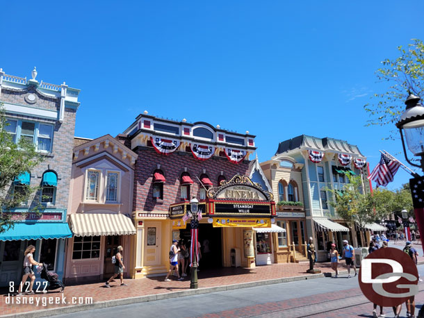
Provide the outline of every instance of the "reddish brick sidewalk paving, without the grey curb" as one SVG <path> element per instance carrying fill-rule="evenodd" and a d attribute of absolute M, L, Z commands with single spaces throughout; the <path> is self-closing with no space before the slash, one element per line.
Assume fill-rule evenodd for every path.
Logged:
<path fill-rule="evenodd" d="M 423 258 L 424 260 L 424 258 Z M 254 269 L 224 267 L 222 269 L 215 269 L 211 271 L 199 271 L 199 288 L 202 287 L 216 287 L 223 285 L 233 285 L 239 283 L 250 283 L 255 281 L 267 281 L 276 278 L 288 278 L 293 276 L 309 275 L 306 273 L 309 268 L 308 262 L 301 263 L 286 263 L 274 264 L 256 267 Z M 329 263 L 317 263 L 316 268 L 321 269 L 323 272 L 331 273 L 332 269 Z M 345 269 L 344 265 L 341 270 Z M 85 285 L 67 286 L 64 295 L 67 299 L 71 297 L 93 297 L 93 302 L 109 301 L 113 299 L 125 299 L 136 296 L 147 296 L 152 294 L 163 294 L 170 292 L 179 292 L 181 290 L 190 289 L 190 279 L 186 278 L 185 281 L 176 281 L 176 277 L 171 282 L 163 281 L 163 276 L 140 278 L 137 280 L 126 279 L 127 287 L 118 287 L 119 281 L 112 283 L 112 288 L 105 288 L 103 283 L 89 283 Z M 33 310 L 57 308 L 60 306 L 71 306 L 69 304 L 51 304 L 45 307 L 28 305 L 28 304 L 8 304 L 6 303 L 8 289 L 0 289 L 0 308 L 1 315 L 16 314 L 19 312 L 28 312 Z M 46 296 L 61 296 L 59 292 L 52 291 L 49 294 L 35 294 L 35 298 L 42 298 Z M 28 298 L 29 296 L 22 296 Z M 10 299 L 17 299 L 17 297 L 10 297 Z M 42 301 L 42 300 L 40 300 Z"/>

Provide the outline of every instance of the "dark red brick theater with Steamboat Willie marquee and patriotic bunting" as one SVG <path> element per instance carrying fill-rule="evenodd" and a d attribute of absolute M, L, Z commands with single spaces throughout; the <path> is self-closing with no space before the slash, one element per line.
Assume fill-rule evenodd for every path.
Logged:
<path fill-rule="evenodd" d="M 256 149 L 254 135 L 226 131 L 204 122 L 190 124 L 185 119 L 175 122 L 145 112 L 120 137 L 126 138 L 126 143 L 138 155 L 133 194 L 133 218 L 137 228 L 133 277 L 168 270 L 172 239 L 190 240 L 190 226 L 181 218 L 190 209 L 189 201 L 193 196 L 200 201 L 203 215 L 199 242 L 204 261 L 201 260 L 200 267 L 230 266 L 231 249 L 238 251 L 239 265 L 248 266 L 254 262 L 253 242 L 252 253 L 249 252 L 252 255 L 243 253 L 243 230 L 249 231 L 245 235 L 254 236 L 252 225 L 241 227 L 240 224 L 236 226 L 236 222 L 260 217 L 257 221 L 262 221 L 262 226 L 270 226 L 272 208 L 275 212 L 272 195 L 269 196 L 268 189 L 263 189 L 263 185 L 268 184 L 266 178 L 261 171 L 256 171 L 260 170 L 256 161 L 249 160 Z M 227 196 L 226 202 L 231 201 L 231 204 L 229 210 L 225 210 L 220 193 L 224 188 L 234 189 L 236 179 L 230 181 L 237 175 L 243 176 L 243 182 L 241 178 L 237 180 L 245 192 L 226 193 L 238 195 L 243 192 L 245 198 L 256 196 L 256 199 Z M 222 186 L 225 182 L 227 184 Z M 245 210 L 244 214 L 231 210 L 232 203 L 242 201 L 252 206 L 256 204 L 258 209 L 265 206 L 265 214 L 258 215 L 253 208 Z M 218 212 L 222 207 L 223 213 Z M 223 223 L 220 215 L 226 218 Z M 233 221 L 234 224 L 229 224 Z"/>

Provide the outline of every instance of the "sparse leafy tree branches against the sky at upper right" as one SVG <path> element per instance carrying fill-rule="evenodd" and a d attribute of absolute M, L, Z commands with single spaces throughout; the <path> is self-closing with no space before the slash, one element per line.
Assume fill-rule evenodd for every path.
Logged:
<path fill-rule="evenodd" d="M 364 108 L 369 113 L 367 125 L 393 124 L 405 110 L 407 92 L 424 96 L 424 44 L 413 39 L 407 49 L 398 47 L 400 56 L 394 60 L 386 58 L 383 67 L 375 72 L 379 82 L 388 83 L 386 92 L 374 94 L 373 103 Z"/>

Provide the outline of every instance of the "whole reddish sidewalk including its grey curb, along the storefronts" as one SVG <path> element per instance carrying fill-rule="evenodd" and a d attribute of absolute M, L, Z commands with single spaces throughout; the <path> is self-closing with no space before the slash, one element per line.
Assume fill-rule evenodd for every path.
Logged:
<path fill-rule="evenodd" d="M 419 258 L 424 264 L 424 258 Z M 76 312 L 81 310 L 105 308 L 110 306 L 120 306 L 129 303 L 140 303 L 144 301 L 154 301 L 158 299 L 168 299 L 189 294 L 204 294 L 207 292 L 217 292 L 221 290 L 252 287 L 256 285 L 268 285 L 283 283 L 285 281 L 295 281 L 311 279 L 325 276 L 325 273 L 334 273 L 329 262 L 316 263 L 316 269 L 320 269 L 323 274 L 307 274 L 309 262 L 274 264 L 256 267 L 254 269 L 223 267 L 221 269 L 199 271 L 199 289 L 190 290 L 190 278 L 185 281 L 177 281 L 173 277 L 172 281 L 165 282 L 164 276 L 151 278 L 140 278 L 137 280 L 127 279 L 127 287 L 120 287 L 119 280 L 111 283 L 111 288 L 104 287 L 104 283 L 90 283 L 85 285 L 74 285 L 65 288 L 64 294 L 53 291 L 48 294 L 26 295 L 22 297 L 8 297 L 8 289 L 0 290 L 0 308 L 2 315 L 10 317 L 47 317 L 66 312 Z M 339 265 L 340 274 L 347 274 L 344 261 Z M 42 306 L 42 302 L 48 302 L 49 297 L 66 297 L 67 303 L 47 304 Z M 72 297 L 79 299 L 92 297 L 91 305 L 72 305 Z M 6 303 L 8 300 L 16 301 L 27 298 L 33 299 L 35 303 L 38 299 L 39 305 Z M 60 311 L 58 311 L 60 310 Z M 24 315 L 26 313 L 26 315 Z"/>

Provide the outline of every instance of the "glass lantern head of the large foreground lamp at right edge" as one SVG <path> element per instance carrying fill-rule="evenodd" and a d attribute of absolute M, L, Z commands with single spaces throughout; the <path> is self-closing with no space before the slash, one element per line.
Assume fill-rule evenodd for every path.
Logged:
<path fill-rule="evenodd" d="M 424 106 L 420 103 L 420 100 L 419 97 L 409 93 L 405 101 L 407 107 L 399 122 L 396 123 L 396 127 L 400 132 L 405 159 L 410 165 L 424 171 Z M 404 132 L 408 149 L 411 153 L 414 153 L 414 156 L 421 156 L 421 165 L 416 165 L 409 160 L 403 137 Z"/>

